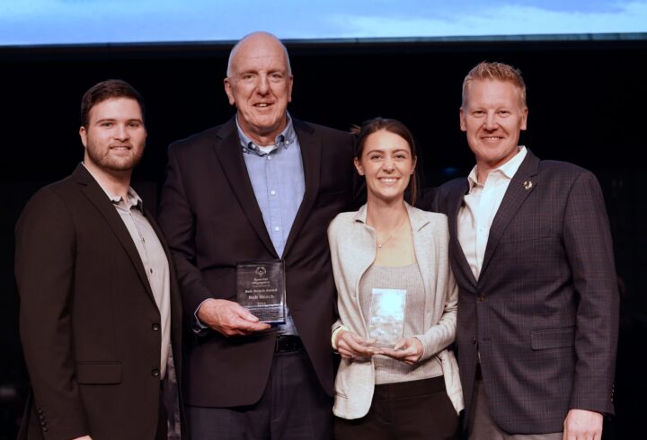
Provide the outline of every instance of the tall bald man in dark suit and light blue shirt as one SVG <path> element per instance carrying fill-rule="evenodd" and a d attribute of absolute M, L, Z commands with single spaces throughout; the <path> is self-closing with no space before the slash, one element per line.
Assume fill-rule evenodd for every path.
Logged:
<path fill-rule="evenodd" d="M 276 37 L 232 49 L 236 115 L 169 148 L 160 225 L 182 282 L 187 414 L 194 439 L 331 436 L 335 288 L 326 228 L 352 207 L 353 140 L 288 114 L 292 73 Z M 237 304 L 236 266 L 285 264 L 285 324 Z"/>

